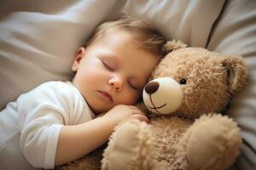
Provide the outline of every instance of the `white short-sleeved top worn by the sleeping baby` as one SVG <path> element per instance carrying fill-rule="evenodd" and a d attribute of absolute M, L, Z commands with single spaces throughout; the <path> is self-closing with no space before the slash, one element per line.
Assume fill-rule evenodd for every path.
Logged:
<path fill-rule="evenodd" d="M 94 117 L 71 82 L 45 82 L 21 94 L 0 112 L 0 169 L 54 168 L 61 127 Z"/>

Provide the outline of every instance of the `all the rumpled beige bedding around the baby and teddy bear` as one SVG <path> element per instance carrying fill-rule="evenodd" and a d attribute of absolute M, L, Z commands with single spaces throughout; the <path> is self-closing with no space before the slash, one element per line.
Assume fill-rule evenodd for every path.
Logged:
<path fill-rule="evenodd" d="M 70 79 L 73 54 L 79 45 L 99 23 L 116 19 L 123 9 L 151 21 L 167 39 L 180 39 L 221 54 L 241 54 L 246 59 L 250 72 L 247 88 L 232 100 L 227 114 L 239 123 L 244 139 L 241 156 L 232 169 L 255 169 L 253 0 L 1 0 L 0 110 L 42 82 Z"/>

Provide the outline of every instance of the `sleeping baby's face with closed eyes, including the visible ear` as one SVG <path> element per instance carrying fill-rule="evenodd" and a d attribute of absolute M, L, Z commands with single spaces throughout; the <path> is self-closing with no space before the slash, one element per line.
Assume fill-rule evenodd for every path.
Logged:
<path fill-rule="evenodd" d="M 159 56 L 138 48 L 129 33 L 120 31 L 79 48 L 73 84 L 96 114 L 115 105 L 134 105 L 159 61 Z"/>

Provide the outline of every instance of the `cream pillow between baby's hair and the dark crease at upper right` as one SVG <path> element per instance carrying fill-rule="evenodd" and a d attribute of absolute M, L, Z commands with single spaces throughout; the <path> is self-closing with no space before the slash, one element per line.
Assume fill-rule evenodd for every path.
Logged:
<path fill-rule="evenodd" d="M 206 47 L 212 25 L 224 0 L 129 0 L 128 13 L 149 20 L 164 37 L 176 38 L 194 47 Z"/>

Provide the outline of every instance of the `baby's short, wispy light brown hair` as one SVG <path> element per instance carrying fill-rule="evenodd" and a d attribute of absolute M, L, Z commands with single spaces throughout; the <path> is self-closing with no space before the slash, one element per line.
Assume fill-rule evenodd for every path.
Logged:
<path fill-rule="evenodd" d="M 149 53 L 163 57 L 166 54 L 164 45 L 166 40 L 154 26 L 148 21 L 123 14 L 119 20 L 108 21 L 96 28 L 92 33 L 89 41 L 85 43 L 85 47 L 99 41 L 110 30 L 117 29 L 119 31 L 127 31 L 131 33 L 140 43 L 141 47 L 148 50 Z"/>

